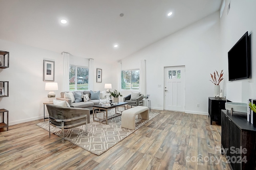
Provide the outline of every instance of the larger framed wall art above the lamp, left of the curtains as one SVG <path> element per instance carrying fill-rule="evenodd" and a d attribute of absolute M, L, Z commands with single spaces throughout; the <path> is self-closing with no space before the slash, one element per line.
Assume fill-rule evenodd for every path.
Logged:
<path fill-rule="evenodd" d="M 44 59 L 43 81 L 54 81 L 55 62 Z"/>

